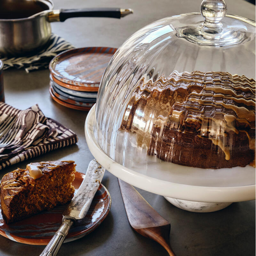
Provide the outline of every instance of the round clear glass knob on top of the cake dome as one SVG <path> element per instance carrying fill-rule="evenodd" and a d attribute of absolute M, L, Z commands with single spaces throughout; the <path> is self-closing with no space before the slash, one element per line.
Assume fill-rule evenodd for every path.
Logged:
<path fill-rule="evenodd" d="M 200 12 L 204 17 L 204 26 L 221 27 L 221 20 L 227 13 L 227 5 L 223 0 L 204 0 Z"/>

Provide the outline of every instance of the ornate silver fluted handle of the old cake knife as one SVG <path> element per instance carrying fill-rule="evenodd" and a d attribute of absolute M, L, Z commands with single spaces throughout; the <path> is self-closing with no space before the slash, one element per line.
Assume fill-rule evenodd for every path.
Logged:
<path fill-rule="evenodd" d="M 40 256 L 55 256 L 59 252 L 61 244 L 64 242 L 66 236 L 68 235 L 68 231 L 73 225 L 74 220 L 64 219 L 60 228 L 52 237 L 51 241 L 44 248 L 44 251 L 40 254 Z"/>

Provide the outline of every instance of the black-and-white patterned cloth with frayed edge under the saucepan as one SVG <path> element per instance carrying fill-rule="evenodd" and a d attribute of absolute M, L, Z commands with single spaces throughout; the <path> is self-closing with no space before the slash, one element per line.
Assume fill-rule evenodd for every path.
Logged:
<path fill-rule="evenodd" d="M 48 68 L 49 62 L 58 53 L 72 49 L 74 46 L 68 43 L 62 37 L 52 34 L 49 42 L 44 49 L 32 56 L 24 57 L 4 57 L 1 60 L 4 63 L 4 69 L 7 68 L 24 68 L 27 73 L 40 68 Z"/>

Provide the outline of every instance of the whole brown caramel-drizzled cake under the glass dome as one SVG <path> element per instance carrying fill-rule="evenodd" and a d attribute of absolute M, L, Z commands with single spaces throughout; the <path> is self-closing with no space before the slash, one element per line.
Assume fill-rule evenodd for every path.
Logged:
<path fill-rule="evenodd" d="M 164 161 L 213 169 L 255 164 L 255 80 L 200 71 L 142 79 L 120 130 Z"/>

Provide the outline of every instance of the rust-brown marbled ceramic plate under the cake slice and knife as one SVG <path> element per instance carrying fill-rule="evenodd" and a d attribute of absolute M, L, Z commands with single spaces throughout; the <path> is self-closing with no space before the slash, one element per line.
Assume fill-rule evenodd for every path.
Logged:
<path fill-rule="evenodd" d="M 72 184 L 76 191 L 81 185 L 84 176 L 84 173 L 75 173 L 75 180 Z M 60 227 L 62 212 L 66 206 L 57 206 L 51 211 L 40 212 L 24 220 L 10 224 L 6 224 L 0 211 L 0 235 L 23 244 L 48 244 L 54 233 Z M 64 243 L 76 240 L 92 232 L 106 218 L 110 207 L 111 197 L 108 190 L 100 184 L 84 220 L 70 229 Z"/>

